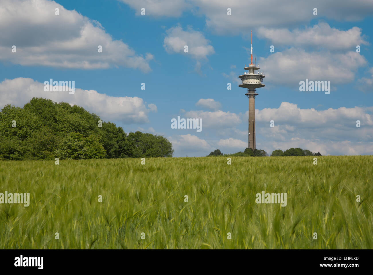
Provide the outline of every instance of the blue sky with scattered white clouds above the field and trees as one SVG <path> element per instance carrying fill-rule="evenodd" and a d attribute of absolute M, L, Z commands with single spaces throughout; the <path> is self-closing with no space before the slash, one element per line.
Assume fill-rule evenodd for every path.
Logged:
<path fill-rule="evenodd" d="M 163 135 L 174 156 L 243 151 L 248 99 L 238 74 L 250 64 L 253 30 L 254 58 L 266 75 L 257 89 L 257 148 L 372 155 L 373 1 L 340 2 L 4 0 L 0 107 L 51 98 L 127 133 Z M 75 81 L 75 94 L 44 92 L 51 78 Z M 305 79 L 330 81 L 330 94 L 300 92 Z M 202 131 L 171 129 L 177 116 L 201 118 Z"/>

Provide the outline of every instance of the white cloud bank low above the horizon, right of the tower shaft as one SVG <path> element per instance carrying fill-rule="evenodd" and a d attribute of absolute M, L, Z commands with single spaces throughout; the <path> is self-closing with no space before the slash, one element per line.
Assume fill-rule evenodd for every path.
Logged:
<path fill-rule="evenodd" d="M 301 109 L 282 102 L 279 108 L 256 110 L 258 148 L 301 147 L 323 155 L 373 154 L 373 107 Z M 246 113 L 245 116 L 248 114 Z M 270 127 L 274 120 L 275 127 Z M 360 120 L 360 127 L 356 127 Z M 258 138 L 260 136 L 260 138 Z"/>

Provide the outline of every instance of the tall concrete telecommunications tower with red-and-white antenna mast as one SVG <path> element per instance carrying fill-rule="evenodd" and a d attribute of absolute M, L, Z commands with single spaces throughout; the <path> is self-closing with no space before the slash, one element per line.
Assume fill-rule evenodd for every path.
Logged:
<path fill-rule="evenodd" d="M 259 70 L 259 67 L 256 67 L 256 64 L 253 64 L 253 32 L 251 31 L 251 64 L 244 67 L 244 70 L 248 72 L 239 75 L 239 79 L 242 80 L 242 83 L 238 86 L 241 88 L 246 88 L 247 93 L 245 94 L 249 99 L 249 138 L 248 138 L 248 147 L 256 149 L 255 147 L 255 97 L 258 95 L 256 92 L 257 88 L 262 88 L 266 85 L 262 84 L 264 73 L 256 73 L 256 70 Z"/>

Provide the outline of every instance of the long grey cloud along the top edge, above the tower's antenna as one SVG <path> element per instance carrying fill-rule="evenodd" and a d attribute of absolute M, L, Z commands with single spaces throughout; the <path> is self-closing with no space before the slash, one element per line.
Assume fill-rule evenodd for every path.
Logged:
<path fill-rule="evenodd" d="M 370 0 L 313 0 L 294 1 L 278 0 L 242 1 L 242 0 L 119 0 L 135 9 L 140 16 L 141 8 L 153 17 L 178 17 L 187 10 L 193 15 L 206 18 L 207 27 L 220 34 L 249 34 L 258 27 L 291 27 L 305 25 L 314 19 L 313 9 L 317 7 L 318 15 L 337 21 L 358 21 L 373 13 Z M 273 7 L 276 7 L 275 9 Z M 227 15 L 227 9 L 231 15 Z M 255 15 L 255 20 L 248 20 Z"/>

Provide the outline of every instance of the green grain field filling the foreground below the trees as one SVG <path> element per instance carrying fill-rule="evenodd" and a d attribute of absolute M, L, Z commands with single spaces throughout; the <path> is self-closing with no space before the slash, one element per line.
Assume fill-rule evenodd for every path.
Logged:
<path fill-rule="evenodd" d="M 372 249 L 372 167 L 373 156 L 0 161 L 0 193 L 30 193 L 28 207 L 0 204 L 0 248 Z M 257 204 L 262 191 L 287 205 Z"/>

